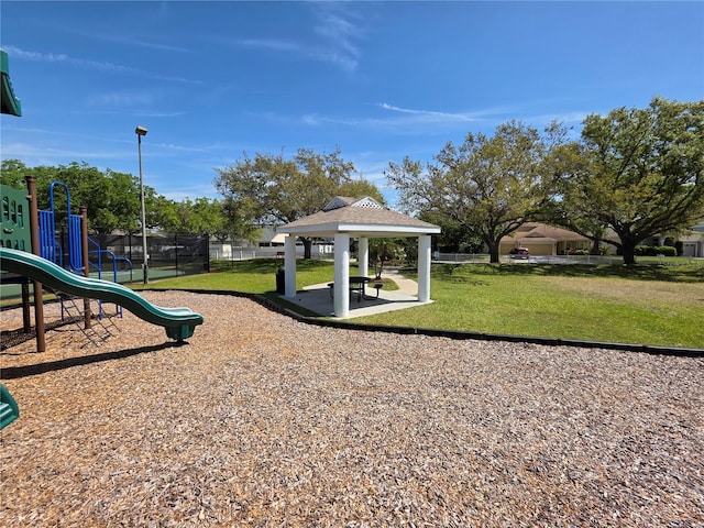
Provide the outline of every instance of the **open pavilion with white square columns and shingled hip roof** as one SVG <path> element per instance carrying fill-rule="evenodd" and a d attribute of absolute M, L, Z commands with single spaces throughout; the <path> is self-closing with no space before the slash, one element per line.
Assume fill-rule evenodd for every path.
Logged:
<path fill-rule="evenodd" d="M 276 229 L 286 233 L 285 297 L 296 296 L 296 239 L 298 237 L 334 238 L 334 308 L 336 317 L 350 312 L 350 240 L 359 240 L 360 275 L 369 274 L 369 239 L 418 238 L 418 301 L 430 301 L 430 237 L 440 233 L 432 223 L 402 215 L 373 198 L 337 197 L 320 212 Z"/>

